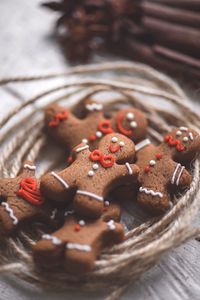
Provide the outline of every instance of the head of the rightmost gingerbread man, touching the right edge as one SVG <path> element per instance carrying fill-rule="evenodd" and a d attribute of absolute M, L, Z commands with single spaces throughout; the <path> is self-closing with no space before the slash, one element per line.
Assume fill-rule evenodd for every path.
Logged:
<path fill-rule="evenodd" d="M 165 135 L 163 147 L 174 160 L 191 162 L 200 153 L 200 135 L 191 128 L 181 126 Z"/>

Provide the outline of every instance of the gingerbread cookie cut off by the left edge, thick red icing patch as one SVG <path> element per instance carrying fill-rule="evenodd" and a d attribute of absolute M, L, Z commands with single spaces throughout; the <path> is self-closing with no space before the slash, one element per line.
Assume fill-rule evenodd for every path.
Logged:
<path fill-rule="evenodd" d="M 0 179 L 0 232 L 10 235 L 18 226 L 31 220 L 49 220 L 50 208 L 40 194 L 35 179 L 36 167 L 25 162 L 16 178 Z"/>

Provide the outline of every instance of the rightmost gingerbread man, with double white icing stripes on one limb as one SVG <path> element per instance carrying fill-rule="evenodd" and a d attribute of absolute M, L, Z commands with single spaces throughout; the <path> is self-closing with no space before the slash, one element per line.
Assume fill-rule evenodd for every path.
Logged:
<path fill-rule="evenodd" d="M 138 201 L 154 213 L 162 213 L 169 209 L 175 192 L 190 186 L 192 177 L 185 165 L 199 154 L 200 136 L 187 127 L 175 128 L 158 147 L 146 139 L 136 145 L 136 152 Z"/>

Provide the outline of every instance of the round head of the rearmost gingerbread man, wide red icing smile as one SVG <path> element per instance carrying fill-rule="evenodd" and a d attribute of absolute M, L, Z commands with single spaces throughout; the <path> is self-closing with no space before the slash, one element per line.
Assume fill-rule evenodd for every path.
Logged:
<path fill-rule="evenodd" d="M 144 139 L 147 133 L 147 119 L 142 111 L 135 108 L 119 111 L 112 124 L 114 131 L 126 135 L 135 143 Z"/>

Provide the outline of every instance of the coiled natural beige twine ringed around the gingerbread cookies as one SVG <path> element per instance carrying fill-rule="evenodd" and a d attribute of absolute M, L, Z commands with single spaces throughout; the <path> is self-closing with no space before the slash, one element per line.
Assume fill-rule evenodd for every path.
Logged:
<path fill-rule="evenodd" d="M 105 104 L 107 109 L 120 103 L 143 109 L 150 123 L 149 136 L 158 143 L 162 140 L 162 134 L 172 126 L 184 124 L 199 131 L 200 118 L 191 110 L 187 95 L 176 82 L 138 63 L 117 62 L 73 67 L 64 73 L 6 78 L 0 80 L 0 85 L 28 84 L 36 80 L 52 80 L 58 77 L 66 77 L 66 83 L 26 99 L 0 120 L 1 174 L 16 176 L 23 160 L 36 159 L 40 149 L 46 144 L 42 132 L 42 116 L 38 116 L 46 105 L 46 102 L 42 101 L 46 96 L 50 97 L 48 103 L 61 100 L 67 102 L 71 97 L 75 97 L 73 103 L 78 103 L 102 91 L 117 92 L 122 100 L 109 99 Z M 63 91 L 64 94 L 56 96 L 58 91 Z M 156 101 L 150 104 L 146 96 L 156 97 Z M 162 109 L 158 104 L 163 100 L 172 104 L 173 109 Z M 35 105 L 39 103 L 40 105 Z M 30 107 L 31 112 L 22 116 L 20 113 L 26 107 Z M 17 121 L 16 116 L 19 116 Z M 7 126 L 12 124 L 14 118 L 15 125 Z M 32 134 L 28 135 L 30 131 Z M 45 171 L 44 168 L 41 173 Z M 200 229 L 191 225 L 200 206 L 199 159 L 193 162 L 192 173 L 190 189 L 178 201 L 174 201 L 175 205 L 168 213 L 161 218 L 150 219 L 127 232 L 123 243 L 102 253 L 96 261 L 95 270 L 90 274 L 82 277 L 63 271 L 41 273 L 32 261 L 31 247 L 35 244 L 33 234 L 25 232 L 20 232 L 17 237 L 5 241 L 5 247 L 0 252 L 0 272 L 10 272 L 43 287 L 87 292 L 107 290 L 111 292 L 107 300 L 119 298 L 131 282 L 158 262 L 162 254 L 200 234 Z"/>

